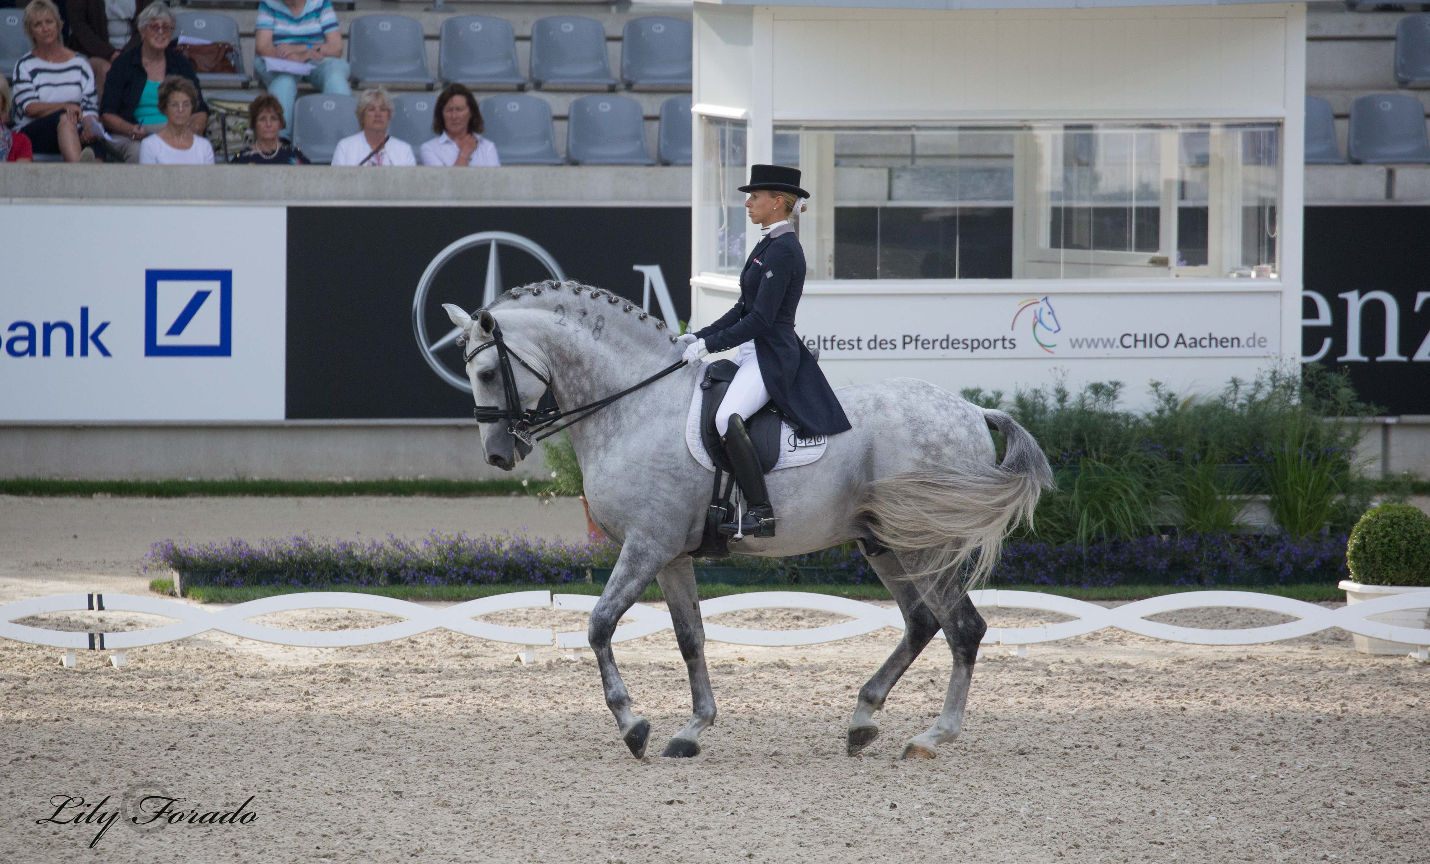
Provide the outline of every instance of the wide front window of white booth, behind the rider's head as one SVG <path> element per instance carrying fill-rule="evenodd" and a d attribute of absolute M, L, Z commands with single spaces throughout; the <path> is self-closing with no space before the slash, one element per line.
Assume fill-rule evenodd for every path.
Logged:
<path fill-rule="evenodd" d="M 814 279 L 1274 276 L 1276 123 L 776 127 Z M 829 177 L 832 176 L 832 183 Z"/>

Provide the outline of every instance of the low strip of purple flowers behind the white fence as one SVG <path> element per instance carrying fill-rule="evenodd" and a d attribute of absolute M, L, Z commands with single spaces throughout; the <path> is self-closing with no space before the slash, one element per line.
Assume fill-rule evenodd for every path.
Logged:
<path fill-rule="evenodd" d="M 154 544 L 149 568 L 186 586 L 562 585 L 602 581 L 619 549 L 606 544 L 522 535 L 439 535 L 420 541 L 335 541 L 289 536 L 247 544 Z M 1348 575 L 1346 535 L 1185 534 L 1095 544 L 1014 541 L 994 586 L 1224 585 L 1330 582 Z M 849 544 L 791 558 L 732 556 L 696 564 L 696 578 L 722 584 L 861 585 L 878 582 Z"/>

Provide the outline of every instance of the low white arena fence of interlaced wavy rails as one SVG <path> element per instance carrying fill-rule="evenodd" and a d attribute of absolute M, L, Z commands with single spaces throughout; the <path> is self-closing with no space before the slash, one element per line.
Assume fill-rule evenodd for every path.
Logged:
<path fill-rule="evenodd" d="M 985 645 L 1015 645 L 1020 657 L 1027 657 L 1028 645 L 1067 639 L 1070 637 L 1095 632 L 1108 627 L 1115 627 L 1118 629 L 1144 637 L 1165 639 L 1168 642 L 1184 642 L 1191 645 L 1258 645 L 1281 639 L 1293 639 L 1296 637 L 1304 637 L 1338 627 L 1344 631 L 1360 634 L 1363 637 L 1413 645 L 1417 648 L 1416 655 L 1419 658 L 1430 659 L 1430 629 L 1397 627 L 1369 619 L 1371 615 L 1383 612 L 1430 608 L 1430 591 L 1380 597 L 1356 605 L 1341 607 L 1338 609 L 1326 609 L 1323 607 L 1287 597 L 1256 594 L 1248 591 L 1190 591 L 1184 594 L 1168 594 L 1140 599 L 1111 609 L 1068 597 L 1034 591 L 988 589 L 974 591 L 970 597 L 974 601 L 974 605 L 982 609 L 1035 609 L 1044 612 L 1060 612 L 1074 618 L 1072 621 L 1041 627 L 988 628 L 988 632 L 982 639 Z M 209 611 L 203 607 L 157 597 L 136 597 L 130 594 L 60 594 L 0 605 L 0 637 L 29 642 L 31 645 L 64 648 L 61 662 L 66 667 L 74 665 L 76 651 L 80 649 L 114 651 L 110 662 L 120 667 L 124 665 L 124 651 L 129 648 L 173 642 L 209 631 L 222 631 L 236 637 L 257 639 L 260 642 L 272 642 L 276 645 L 302 648 L 343 648 L 347 645 L 389 642 L 392 639 L 400 639 L 440 628 L 490 639 L 493 642 L 521 645 L 522 651 L 518 654 L 518 658 L 522 662 L 533 662 L 536 658 L 535 649 L 538 647 L 553 645 L 555 648 L 565 651 L 568 657 L 579 655 L 582 648 L 589 647 L 586 642 L 586 634 L 583 631 L 553 632 L 545 628 L 503 627 L 485 621 L 473 621 L 473 618 L 508 609 L 565 609 L 589 612 L 595 609 L 596 599 L 596 597 L 589 594 L 553 595 L 549 591 L 518 591 L 512 594 L 483 597 L 480 599 L 456 604 L 445 609 L 433 609 L 422 604 L 390 597 L 379 597 L 375 594 L 313 591 L 303 594 L 282 594 L 277 597 L 236 604 L 217 611 Z M 1147 621 L 1148 615 L 1157 615 L 1161 612 L 1210 608 L 1263 609 L 1267 612 L 1291 615 L 1296 621 L 1243 629 L 1175 627 L 1171 624 Z M 396 615 L 405 621 L 382 627 L 340 631 L 300 631 L 266 627 L 249 621 L 249 618 L 257 615 L 299 609 L 359 609 Z M 808 609 L 817 612 L 837 612 L 848 615 L 852 619 L 805 629 L 751 629 L 742 627 L 725 627 L 721 624 L 706 624 L 705 638 L 735 645 L 794 647 L 835 642 L 838 639 L 848 639 L 851 637 L 872 632 L 884 627 L 904 628 L 904 617 L 899 614 L 897 607 L 877 607 L 874 604 L 827 594 L 808 594 L 802 591 L 759 591 L 716 597 L 701 602 L 701 615 L 705 618 L 744 609 Z M 149 612 L 152 615 L 176 618 L 177 622 L 147 629 L 109 634 L 57 631 L 16 624 L 17 618 L 29 615 L 83 611 Z M 662 612 L 661 609 L 644 604 L 631 607 L 626 617 L 633 618 L 635 621 L 616 628 L 613 637 L 616 642 L 638 639 L 672 627 L 671 615 L 668 612 Z M 942 631 L 938 632 L 938 638 L 942 638 Z"/>

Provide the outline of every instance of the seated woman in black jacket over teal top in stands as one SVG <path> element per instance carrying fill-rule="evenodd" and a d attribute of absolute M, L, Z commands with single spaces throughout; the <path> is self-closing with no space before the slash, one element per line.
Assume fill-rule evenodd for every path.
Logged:
<path fill-rule="evenodd" d="M 159 84 L 169 76 L 187 79 L 199 94 L 190 120 L 193 130 L 203 134 L 209 127 L 209 104 L 193 63 L 169 43 L 174 33 L 173 13 L 163 3 L 153 3 L 139 13 L 137 24 L 142 41 L 114 59 L 109 87 L 99 103 L 100 120 L 109 130 L 104 147 L 114 159 L 130 165 L 139 163 L 144 137 L 169 124 L 159 109 Z"/>

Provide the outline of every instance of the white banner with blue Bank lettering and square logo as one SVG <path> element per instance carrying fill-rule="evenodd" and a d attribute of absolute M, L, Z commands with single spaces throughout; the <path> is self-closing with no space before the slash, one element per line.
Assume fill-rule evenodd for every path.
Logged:
<path fill-rule="evenodd" d="M 0 421 L 280 421 L 283 207 L 0 205 Z"/>

